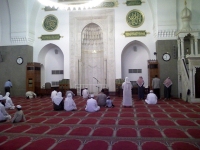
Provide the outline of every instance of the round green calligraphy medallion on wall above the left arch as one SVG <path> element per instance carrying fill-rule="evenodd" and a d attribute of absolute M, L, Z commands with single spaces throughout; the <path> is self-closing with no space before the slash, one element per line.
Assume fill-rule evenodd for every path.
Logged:
<path fill-rule="evenodd" d="M 48 31 L 54 31 L 58 26 L 58 19 L 54 15 L 48 15 L 43 21 L 43 28 Z"/>

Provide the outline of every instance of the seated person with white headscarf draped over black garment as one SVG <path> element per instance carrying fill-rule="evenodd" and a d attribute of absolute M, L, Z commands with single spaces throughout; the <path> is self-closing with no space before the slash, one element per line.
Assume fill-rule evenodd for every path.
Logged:
<path fill-rule="evenodd" d="M 58 92 L 56 96 L 53 97 L 53 108 L 54 110 L 63 110 L 64 109 L 64 102 L 62 93 Z"/>

